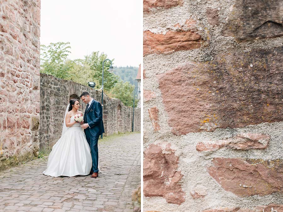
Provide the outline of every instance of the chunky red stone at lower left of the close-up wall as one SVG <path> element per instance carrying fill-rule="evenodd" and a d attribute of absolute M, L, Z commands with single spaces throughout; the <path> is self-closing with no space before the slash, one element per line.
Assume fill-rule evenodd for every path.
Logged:
<path fill-rule="evenodd" d="M 168 203 L 183 203 L 185 192 L 179 184 L 182 174 L 177 171 L 178 163 L 179 157 L 169 145 L 164 149 L 156 144 L 149 145 L 143 161 L 144 196 L 160 196 Z"/>

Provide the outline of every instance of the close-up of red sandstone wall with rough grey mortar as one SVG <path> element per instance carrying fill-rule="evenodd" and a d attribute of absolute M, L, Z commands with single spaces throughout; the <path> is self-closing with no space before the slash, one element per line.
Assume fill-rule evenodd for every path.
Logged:
<path fill-rule="evenodd" d="M 144 211 L 283 211 L 283 2 L 143 3 Z"/>

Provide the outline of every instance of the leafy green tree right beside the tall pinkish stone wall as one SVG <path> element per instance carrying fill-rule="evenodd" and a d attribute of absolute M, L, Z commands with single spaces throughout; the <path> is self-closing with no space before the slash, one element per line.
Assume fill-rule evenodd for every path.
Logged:
<path fill-rule="evenodd" d="M 69 53 L 69 42 L 50 43 L 50 45 L 41 45 L 42 59 L 41 72 L 66 79 L 69 71 L 73 69 L 73 62 L 67 59 Z"/>

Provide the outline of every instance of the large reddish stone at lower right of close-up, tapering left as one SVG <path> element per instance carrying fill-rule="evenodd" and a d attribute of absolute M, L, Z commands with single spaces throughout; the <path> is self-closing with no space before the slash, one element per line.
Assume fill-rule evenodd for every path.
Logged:
<path fill-rule="evenodd" d="M 237 196 L 264 196 L 283 191 L 283 161 L 214 158 L 208 173 L 226 190 Z"/>

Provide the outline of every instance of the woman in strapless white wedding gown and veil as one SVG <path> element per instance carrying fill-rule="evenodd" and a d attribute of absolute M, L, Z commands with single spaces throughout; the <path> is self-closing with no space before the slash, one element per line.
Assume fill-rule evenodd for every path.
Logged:
<path fill-rule="evenodd" d="M 44 175 L 71 177 L 90 174 L 91 150 L 80 123 L 75 121 L 75 115 L 82 114 L 78 111 L 79 108 L 79 100 L 71 99 L 65 113 L 62 136 L 52 147 L 48 156 L 47 169 L 42 172 Z"/>

